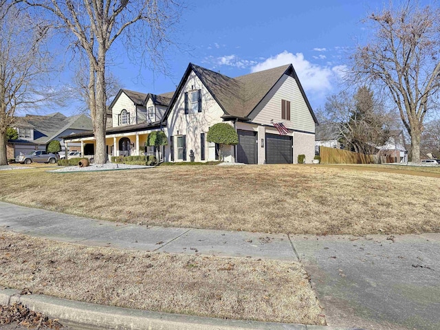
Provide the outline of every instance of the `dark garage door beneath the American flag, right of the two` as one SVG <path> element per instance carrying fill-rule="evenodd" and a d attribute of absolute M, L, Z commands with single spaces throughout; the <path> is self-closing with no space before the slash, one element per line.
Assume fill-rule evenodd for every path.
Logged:
<path fill-rule="evenodd" d="M 266 133 L 267 164 L 292 164 L 292 136 Z"/>

